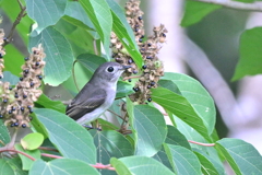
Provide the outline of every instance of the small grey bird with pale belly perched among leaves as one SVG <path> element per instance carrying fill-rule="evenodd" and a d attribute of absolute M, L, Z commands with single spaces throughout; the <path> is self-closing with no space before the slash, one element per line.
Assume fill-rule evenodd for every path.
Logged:
<path fill-rule="evenodd" d="M 106 62 L 99 66 L 91 80 L 68 105 L 66 114 L 84 125 L 97 119 L 112 104 L 117 81 L 130 66 Z"/>

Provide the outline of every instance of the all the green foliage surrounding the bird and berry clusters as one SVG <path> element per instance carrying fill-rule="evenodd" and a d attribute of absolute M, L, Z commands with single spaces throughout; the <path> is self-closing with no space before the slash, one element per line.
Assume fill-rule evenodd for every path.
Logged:
<path fill-rule="evenodd" d="M 19 3 L 9 0 L 0 3 L 5 14 L 14 20 Z M 11 11 L 11 5 L 15 10 Z M 70 85 L 66 82 L 72 78 L 73 61 L 78 60 L 90 78 L 100 63 L 110 60 L 111 31 L 136 66 L 142 67 L 143 59 L 132 28 L 114 0 L 26 0 L 24 5 L 27 16 L 21 23 L 26 25 L 19 25 L 17 32 L 23 42 L 28 43 L 28 50 L 43 44 L 47 62 L 45 84 L 63 84 L 68 92 L 74 91 L 73 82 Z M 182 25 L 191 25 L 219 8 L 187 1 Z M 261 49 L 253 47 L 261 45 L 258 35 L 261 35 L 260 27 L 242 34 L 241 58 L 234 80 L 261 73 L 260 65 L 252 63 L 259 58 L 251 55 L 254 51 L 255 56 L 262 55 L 259 54 Z M 248 45 L 250 42 L 252 45 Z M 105 55 L 99 43 L 103 43 Z M 23 56 L 12 44 L 5 50 L 4 80 L 15 84 Z M 14 67 L 9 62 L 15 62 Z M 253 72 L 250 71 L 254 69 L 247 65 L 250 62 L 252 68 L 258 67 Z M 75 77 L 83 77 L 83 72 L 75 71 Z M 152 89 L 152 101 L 164 110 L 151 102 L 147 105 L 133 103 L 128 97 L 133 82 L 118 82 L 117 97 L 121 100 L 115 101 L 110 109 L 121 115 L 120 106 L 126 102 L 128 129 L 132 131 L 128 135 L 119 132 L 122 129 L 119 127 L 121 119 L 116 126 L 99 119 L 102 131 L 87 130 L 64 115 L 64 105 L 60 101 L 51 101 L 43 94 L 36 102 L 32 120 L 35 133 L 25 136 L 21 143 L 15 144 L 15 150 L 20 152 L 20 158 L 3 156 L 0 173 L 224 175 L 223 163 L 227 161 L 236 174 L 262 174 L 262 158 L 253 145 L 238 139 L 217 139 L 215 105 L 201 83 L 186 74 L 166 72 L 158 85 Z M 163 113 L 166 113 L 165 117 Z M 168 119 L 172 126 L 166 125 Z M 8 144 L 10 133 L 2 121 L 0 132 L 1 143 Z"/>

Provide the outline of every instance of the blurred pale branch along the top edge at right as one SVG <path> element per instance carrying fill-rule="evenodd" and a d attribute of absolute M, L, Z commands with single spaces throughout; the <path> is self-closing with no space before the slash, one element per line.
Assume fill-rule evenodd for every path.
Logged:
<path fill-rule="evenodd" d="M 245 2 L 230 1 L 230 0 L 194 0 L 194 1 L 221 4 L 225 8 L 237 9 L 237 10 L 262 12 L 261 2 L 245 3 Z"/>

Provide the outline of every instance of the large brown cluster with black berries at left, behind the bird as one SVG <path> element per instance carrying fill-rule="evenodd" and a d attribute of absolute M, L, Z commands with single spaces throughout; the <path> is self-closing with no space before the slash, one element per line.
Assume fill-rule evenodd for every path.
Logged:
<path fill-rule="evenodd" d="M 4 125 L 11 127 L 29 127 L 34 102 L 43 93 L 38 88 L 41 85 L 43 68 L 46 57 L 41 45 L 32 48 L 29 57 L 25 58 L 22 66 L 22 77 L 14 89 L 9 86 L 9 82 L 0 83 L 0 94 L 2 103 L 0 104 L 0 118 L 3 118 Z"/>

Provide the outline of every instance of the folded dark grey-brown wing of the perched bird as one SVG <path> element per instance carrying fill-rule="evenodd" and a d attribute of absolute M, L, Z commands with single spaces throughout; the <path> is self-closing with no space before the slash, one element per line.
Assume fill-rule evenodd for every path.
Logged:
<path fill-rule="evenodd" d="M 106 91 L 93 89 L 88 93 L 81 93 L 67 107 L 67 115 L 78 120 L 86 113 L 91 113 L 106 101 Z"/>

